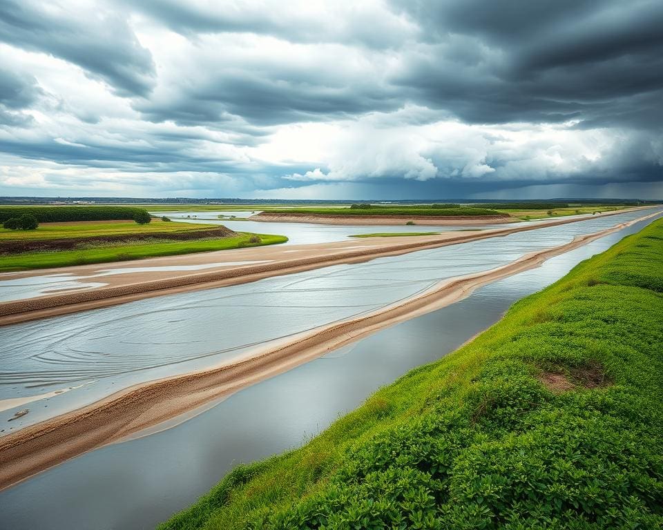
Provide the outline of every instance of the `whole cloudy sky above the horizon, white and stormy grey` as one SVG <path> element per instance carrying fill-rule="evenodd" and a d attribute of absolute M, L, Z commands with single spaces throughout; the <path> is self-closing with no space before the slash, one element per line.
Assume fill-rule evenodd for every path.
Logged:
<path fill-rule="evenodd" d="M 663 199 L 661 0 L 0 0 L 0 195 Z"/>

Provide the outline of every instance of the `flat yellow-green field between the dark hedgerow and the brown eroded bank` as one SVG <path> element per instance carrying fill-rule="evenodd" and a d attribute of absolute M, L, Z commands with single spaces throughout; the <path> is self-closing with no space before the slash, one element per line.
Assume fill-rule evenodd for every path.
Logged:
<path fill-rule="evenodd" d="M 81 223 L 43 223 L 36 230 L 7 230 L 0 228 L 0 241 L 16 239 L 68 239 L 70 237 L 94 237 L 99 235 L 144 235 L 189 230 L 219 228 L 218 224 L 198 224 L 182 222 L 163 222 L 152 219 L 149 224 L 135 222 L 81 222 Z"/>

